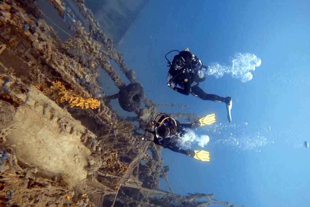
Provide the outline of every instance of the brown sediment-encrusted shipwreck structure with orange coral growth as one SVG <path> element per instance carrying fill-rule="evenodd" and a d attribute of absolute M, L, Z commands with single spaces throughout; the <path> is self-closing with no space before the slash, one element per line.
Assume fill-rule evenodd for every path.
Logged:
<path fill-rule="evenodd" d="M 60 0 L 49 2 L 60 16 L 69 15 Z M 33 0 L 0 2 L 0 185 L 18 192 L 11 200 L 0 196 L 1 204 L 169 206 L 175 200 L 181 206 L 197 206 L 195 199 L 201 197 L 196 194 L 158 190 L 159 178 L 166 177 L 161 148 L 141 142 L 136 131 L 151 129 L 149 121 L 157 115 L 157 107 L 165 104 L 145 98 L 134 70 L 128 69 L 91 11 L 83 1 L 75 2 L 91 33 L 75 21 L 76 34 L 66 42 L 42 19 L 44 14 Z M 113 111 L 97 83 L 103 68 L 120 93 L 126 89 L 110 59 L 120 65 L 132 85 L 141 87 L 140 98 L 133 98 L 138 101 L 133 105 L 138 130 Z M 100 104 L 90 105 L 86 100 Z M 207 194 L 200 196 L 216 203 Z"/>

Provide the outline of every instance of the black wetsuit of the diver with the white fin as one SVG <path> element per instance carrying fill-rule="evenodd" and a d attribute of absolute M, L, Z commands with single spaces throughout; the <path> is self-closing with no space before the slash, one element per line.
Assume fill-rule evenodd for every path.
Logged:
<path fill-rule="evenodd" d="M 185 65 L 181 69 L 176 69 L 175 66 L 175 61 L 178 58 L 178 56 L 183 57 L 183 59 L 185 60 Z M 168 79 L 170 79 L 170 81 L 172 79 L 174 85 L 175 86 L 179 85 L 181 88 L 173 87 L 173 90 L 182 93 L 184 95 L 189 95 L 189 93 L 191 93 L 194 96 L 201 98 L 202 100 L 219 101 L 219 102 L 225 101 L 224 97 L 220 97 L 215 94 L 207 94 L 198 86 L 199 82 L 204 81 L 206 77 L 199 79 L 197 75 L 197 69 L 195 68 L 195 65 L 193 65 L 192 57 L 193 57 L 192 53 L 188 51 L 181 51 L 178 55 L 174 56 L 172 65 L 170 66 L 168 72 Z"/>

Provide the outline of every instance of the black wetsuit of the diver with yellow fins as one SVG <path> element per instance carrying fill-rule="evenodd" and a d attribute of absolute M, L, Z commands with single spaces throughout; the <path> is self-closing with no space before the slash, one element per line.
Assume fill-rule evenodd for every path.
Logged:
<path fill-rule="evenodd" d="M 166 118 L 167 116 L 162 115 L 158 122 L 161 122 L 164 118 Z M 172 131 L 171 129 L 171 122 L 169 121 L 165 121 L 164 122 L 166 124 L 166 126 L 168 126 L 170 128 L 170 133 Z M 165 137 L 165 138 L 158 138 L 156 137 L 156 132 L 155 131 L 151 131 L 146 129 L 145 131 L 148 131 L 149 133 L 152 133 L 154 135 L 154 139 L 153 142 L 157 145 L 161 145 L 164 148 L 167 148 L 169 150 L 172 150 L 174 152 L 179 152 L 182 153 L 184 155 L 186 155 L 186 151 L 181 149 L 180 147 L 177 147 L 175 145 L 177 145 L 178 143 L 178 138 L 182 137 L 185 134 L 184 128 L 192 128 L 192 124 L 181 124 L 179 123 L 179 121 L 176 121 L 177 124 L 177 130 L 176 130 L 176 134 L 170 134 L 169 137 Z"/>

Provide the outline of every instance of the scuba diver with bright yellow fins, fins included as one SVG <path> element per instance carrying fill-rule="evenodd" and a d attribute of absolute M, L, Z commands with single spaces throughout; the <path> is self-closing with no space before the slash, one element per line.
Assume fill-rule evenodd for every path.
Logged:
<path fill-rule="evenodd" d="M 159 117 L 160 116 L 160 117 Z M 158 121 L 156 119 L 159 117 Z M 203 150 L 183 150 L 177 147 L 177 143 L 180 137 L 185 134 L 185 128 L 197 128 L 200 126 L 210 125 L 215 123 L 215 113 L 206 115 L 199 120 L 190 124 L 181 124 L 179 121 L 166 114 L 159 114 L 155 117 L 151 124 L 154 126 L 154 131 L 145 129 L 145 132 L 152 133 L 154 135 L 153 140 L 142 137 L 142 140 L 153 141 L 157 145 L 161 145 L 174 152 L 179 152 L 184 155 L 193 157 L 201 161 L 210 161 L 210 154 Z"/>

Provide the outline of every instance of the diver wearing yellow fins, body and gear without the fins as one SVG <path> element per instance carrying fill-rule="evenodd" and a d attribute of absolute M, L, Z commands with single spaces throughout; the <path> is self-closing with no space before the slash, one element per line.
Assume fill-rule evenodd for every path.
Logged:
<path fill-rule="evenodd" d="M 166 114 L 162 115 L 157 122 L 152 121 L 154 125 L 154 131 L 145 129 L 145 132 L 152 133 L 154 135 L 153 142 L 157 145 L 161 145 L 164 148 L 172 150 L 174 152 L 179 152 L 187 156 L 194 156 L 195 152 L 193 150 L 183 150 L 177 147 L 179 137 L 185 134 L 184 128 L 196 128 L 199 127 L 199 122 L 194 122 L 190 124 L 181 124 L 179 121 L 171 118 Z M 157 117 L 159 116 L 157 115 Z M 155 118 L 156 120 L 156 118 Z"/>

